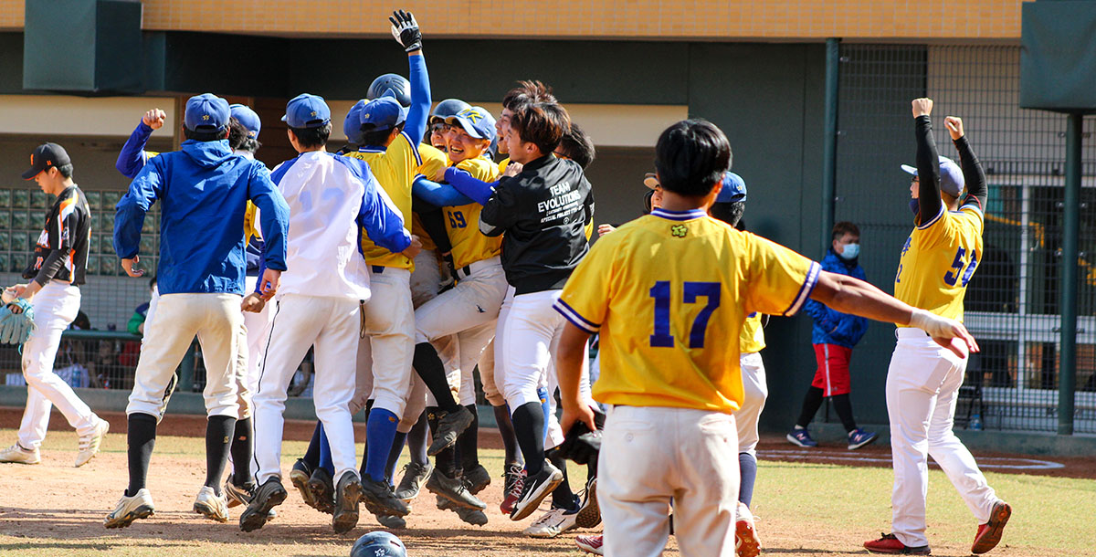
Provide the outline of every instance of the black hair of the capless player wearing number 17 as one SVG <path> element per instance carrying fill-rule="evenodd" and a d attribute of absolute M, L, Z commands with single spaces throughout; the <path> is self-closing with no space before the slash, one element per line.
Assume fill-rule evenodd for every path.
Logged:
<path fill-rule="evenodd" d="M 683 120 L 659 136 L 654 168 L 664 190 L 704 196 L 731 168 L 731 144 L 715 124 L 700 118 Z"/>

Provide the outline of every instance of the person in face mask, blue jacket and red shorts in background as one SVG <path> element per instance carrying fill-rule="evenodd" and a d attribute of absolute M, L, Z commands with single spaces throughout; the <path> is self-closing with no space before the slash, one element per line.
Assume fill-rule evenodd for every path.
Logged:
<path fill-rule="evenodd" d="M 866 280 L 864 268 L 857 260 L 860 254 L 860 229 L 848 221 L 837 223 L 833 227 L 833 243 L 826 250 L 822 260 L 824 271 L 844 274 Z M 841 418 L 842 425 L 848 432 L 848 448 L 860 448 L 877 439 L 876 433 L 864 431 L 853 419 L 853 403 L 849 400 L 852 384 L 848 376 L 848 361 L 853 355 L 853 346 L 868 330 L 868 320 L 849 314 L 830 309 L 823 304 L 807 300 L 803 311 L 814 320 L 811 328 L 811 343 L 814 344 L 814 356 L 818 370 L 814 380 L 803 398 L 803 409 L 796 421 L 796 427 L 787 437 L 792 444 L 801 447 L 817 446 L 807 427 L 814 419 L 814 413 L 822 406 L 822 400 L 829 397 Z"/>

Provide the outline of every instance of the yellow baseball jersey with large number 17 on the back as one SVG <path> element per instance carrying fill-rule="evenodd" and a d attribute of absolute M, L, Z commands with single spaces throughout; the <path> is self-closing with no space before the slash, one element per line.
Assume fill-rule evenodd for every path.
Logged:
<path fill-rule="evenodd" d="M 704 211 L 655 209 L 603 236 L 556 310 L 601 333 L 594 398 L 610 405 L 734 412 L 746 316 L 792 315 L 818 263 Z"/>

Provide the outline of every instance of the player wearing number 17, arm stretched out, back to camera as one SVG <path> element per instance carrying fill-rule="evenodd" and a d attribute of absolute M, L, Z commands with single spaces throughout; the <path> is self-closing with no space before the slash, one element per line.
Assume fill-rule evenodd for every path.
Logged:
<path fill-rule="evenodd" d="M 595 428 L 579 383 L 586 340 L 602 336 L 594 396 L 613 409 L 597 496 L 609 556 L 661 555 L 671 498 L 682 555 L 733 555 L 733 412 L 743 388 L 739 345 L 719 339 L 738 339 L 749 314 L 791 315 L 813 297 L 866 317 L 912 321 L 940 342 L 961 337 L 977 349 L 956 321 L 708 217 L 730 160 L 727 137 L 708 122 L 663 132 L 655 146 L 662 207 L 603 237 L 555 304 L 569 323 L 557 359 L 564 429 L 576 420 Z"/>

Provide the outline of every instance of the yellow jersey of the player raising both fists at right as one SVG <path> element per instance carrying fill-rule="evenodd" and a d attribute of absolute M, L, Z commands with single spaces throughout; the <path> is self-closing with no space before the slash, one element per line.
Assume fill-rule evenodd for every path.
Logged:
<path fill-rule="evenodd" d="M 969 204 L 956 212 L 941 207 L 914 228 L 902 246 L 894 297 L 961 322 L 967 283 L 982 260 L 983 225 L 982 211 Z"/>

